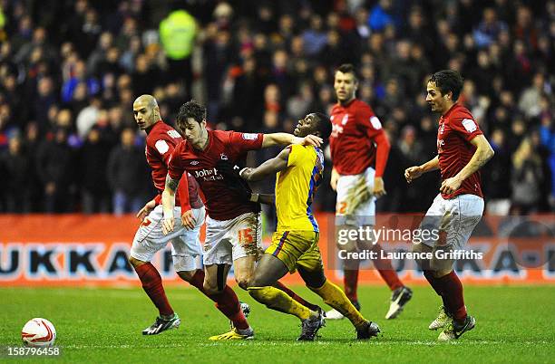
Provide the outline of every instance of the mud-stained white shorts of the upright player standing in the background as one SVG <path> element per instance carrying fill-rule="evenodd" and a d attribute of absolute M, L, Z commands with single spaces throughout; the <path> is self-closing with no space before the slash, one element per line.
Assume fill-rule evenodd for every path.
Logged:
<path fill-rule="evenodd" d="M 355 187 L 364 180 L 366 187 L 374 191 L 375 170 L 372 167 L 358 175 L 341 176 L 337 180 L 336 225 L 375 225 L 375 196 L 371 196 L 347 215 L 353 204 Z"/>

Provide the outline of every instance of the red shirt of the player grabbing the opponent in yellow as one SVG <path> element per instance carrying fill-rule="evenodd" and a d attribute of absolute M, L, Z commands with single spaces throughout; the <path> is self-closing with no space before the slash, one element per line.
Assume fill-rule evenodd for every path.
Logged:
<path fill-rule="evenodd" d="M 248 134 L 235 131 L 208 131 L 207 147 L 200 151 L 183 140 L 171 155 L 170 177 L 177 179 L 184 171 L 199 182 L 204 194 L 206 208 L 215 220 L 230 220 L 248 212 L 258 212 L 258 204 L 243 200 L 237 192 L 226 185 L 218 173 L 216 163 L 227 159 L 231 163 L 244 161 L 249 150 L 262 148 L 264 134 Z"/>

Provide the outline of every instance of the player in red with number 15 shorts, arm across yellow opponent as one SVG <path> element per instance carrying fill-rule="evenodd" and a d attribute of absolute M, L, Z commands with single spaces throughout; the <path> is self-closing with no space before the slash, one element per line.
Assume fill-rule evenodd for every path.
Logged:
<path fill-rule="evenodd" d="M 168 168 L 166 187 L 162 193 L 164 234 L 174 229 L 174 194 L 183 172 L 187 171 L 199 182 L 205 197 L 208 216 L 206 218 L 206 241 L 204 243 L 203 263 L 205 265 L 204 288 L 207 292 L 221 292 L 229 273 L 234 266 L 235 279 L 246 290 L 254 276 L 255 263 L 261 254 L 262 229 L 260 206 L 264 197 L 252 194 L 245 201 L 240 188 L 230 188 L 233 181 L 226 180 L 219 172 L 221 161 L 240 164 L 249 150 L 268 148 L 276 145 L 305 144 L 319 147 L 322 139 L 309 135 L 297 138 L 287 133 L 251 134 L 235 131 L 207 130 L 206 108 L 196 101 L 183 104 L 177 116 L 177 126 L 185 140 L 174 149 Z M 282 283 L 275 285 L 287 292 L 297 302 L 312 311 L 318 311 L 323 321 L 323 312 Z M 250 328 L 235 326 L 222 335 L 210 340 L 251 339 L 254 331 Z"/>

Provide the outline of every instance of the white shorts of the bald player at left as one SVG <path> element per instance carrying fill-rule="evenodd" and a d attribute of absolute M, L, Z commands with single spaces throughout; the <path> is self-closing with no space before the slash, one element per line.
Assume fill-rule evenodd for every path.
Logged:
<path fill-rule="evenodd" d="M 171 257 L 173 268 L 176 272 L 193 271 L 197 268 L 196 257 L 200 250 L 200 226 L 204 224 L 205 209 L 193 208 L 195 227 L 192 230 L 181 225 L 181 208 L 175 207 L 173 216 L 175 225 L 173 232 L 163 235 L 161 220 L 163 217 L 162 206 L 156 206 L 149 216 L 146 216 L 137 230 L 131 246 L 131 256 L 142 262 L 151 262 L 152 256 L 171 243 Z"/>

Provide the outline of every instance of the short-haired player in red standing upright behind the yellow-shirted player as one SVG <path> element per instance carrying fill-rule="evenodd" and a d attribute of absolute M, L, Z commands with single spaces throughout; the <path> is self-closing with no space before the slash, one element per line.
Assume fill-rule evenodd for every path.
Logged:
<path fill-rule="evenodd" d="M 385 164 L 389 155 L 389 141 L 380 120 L 364 101 L 356 99 L 358 80 L 355 68 L 343 64 L 336 70 L 334 88 L 337 103 L 331 111 L 333 124 L 329 138 L 332 169 L 331 187 L 337 192 L 337 229 L 375 225 L 375 199 L 385 194 Z M 339 227 L 341 226 L 341 227 Z M 337 244 L 346 252 L 372 250 L 381 256 L 382 247 L 376 242 L 353 241 Z M 358 260 L 344 262 L 344 284 L 346 296 L 360 310 L 356 288 L 358 283 Z M 389 311 L 385 319 L 394 319 L 408 302 L 413 292 L 405 287 L 394 271 L 391 261 L 375 259 L 378 273 L 392 291 Z M 343 319 L 336 310 L 326 312 L 328 320 Z"/>

